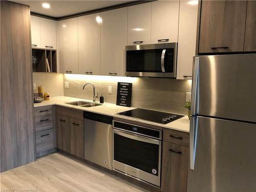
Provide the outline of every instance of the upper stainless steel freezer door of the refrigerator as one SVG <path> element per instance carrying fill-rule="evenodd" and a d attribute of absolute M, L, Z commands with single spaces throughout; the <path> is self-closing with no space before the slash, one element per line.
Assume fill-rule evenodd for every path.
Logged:
<path fill-rule="evenodd" d="M 256 54 L 208 55 L 194 60 L 194 66 L 199 62 L 193 77 L 196 113 L 256 122 Z"/>

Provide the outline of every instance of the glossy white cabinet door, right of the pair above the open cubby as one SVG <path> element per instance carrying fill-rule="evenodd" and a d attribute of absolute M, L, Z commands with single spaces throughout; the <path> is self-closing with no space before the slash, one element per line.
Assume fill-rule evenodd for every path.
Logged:
<path fill-rule="evenodd" d="M 40 18 L 41 48 L 56 49 L 56 21 Z"/>

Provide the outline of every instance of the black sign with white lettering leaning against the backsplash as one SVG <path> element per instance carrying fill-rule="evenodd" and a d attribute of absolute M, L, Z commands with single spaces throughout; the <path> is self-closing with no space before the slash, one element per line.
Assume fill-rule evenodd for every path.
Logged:
<path fill-rule="evenodd" d="M 116 97 L 117 105 L 131 106 L 132 86 L 133 86 L 133 83 L 130 83 L 130 82 L 117 83 L 117 97 Z"/>

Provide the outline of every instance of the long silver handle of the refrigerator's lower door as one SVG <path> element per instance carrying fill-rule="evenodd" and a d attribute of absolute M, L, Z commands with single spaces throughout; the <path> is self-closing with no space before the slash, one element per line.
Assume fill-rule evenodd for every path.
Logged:
<path fill-rule="evenodd" d="M 189 153 L 190 153 L 190 169 L 195 169 L 196 160 L 196 145 L 197 145 L 197 126 L 198 117 L 193 116 L 190 119 L 190 130 L 189 130 Z"/>

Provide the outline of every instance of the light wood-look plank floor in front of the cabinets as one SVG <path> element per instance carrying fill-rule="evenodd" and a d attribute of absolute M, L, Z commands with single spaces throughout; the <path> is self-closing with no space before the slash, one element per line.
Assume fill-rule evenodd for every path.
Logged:
<path fill-rule="evenodd" d="M 3 189 L 37 189 L 34 191 L 104 191 L 140 192 L 134 186 L 114 176 L 99 172 L 87 165 L 58 153 L 1 173 Z"/>

